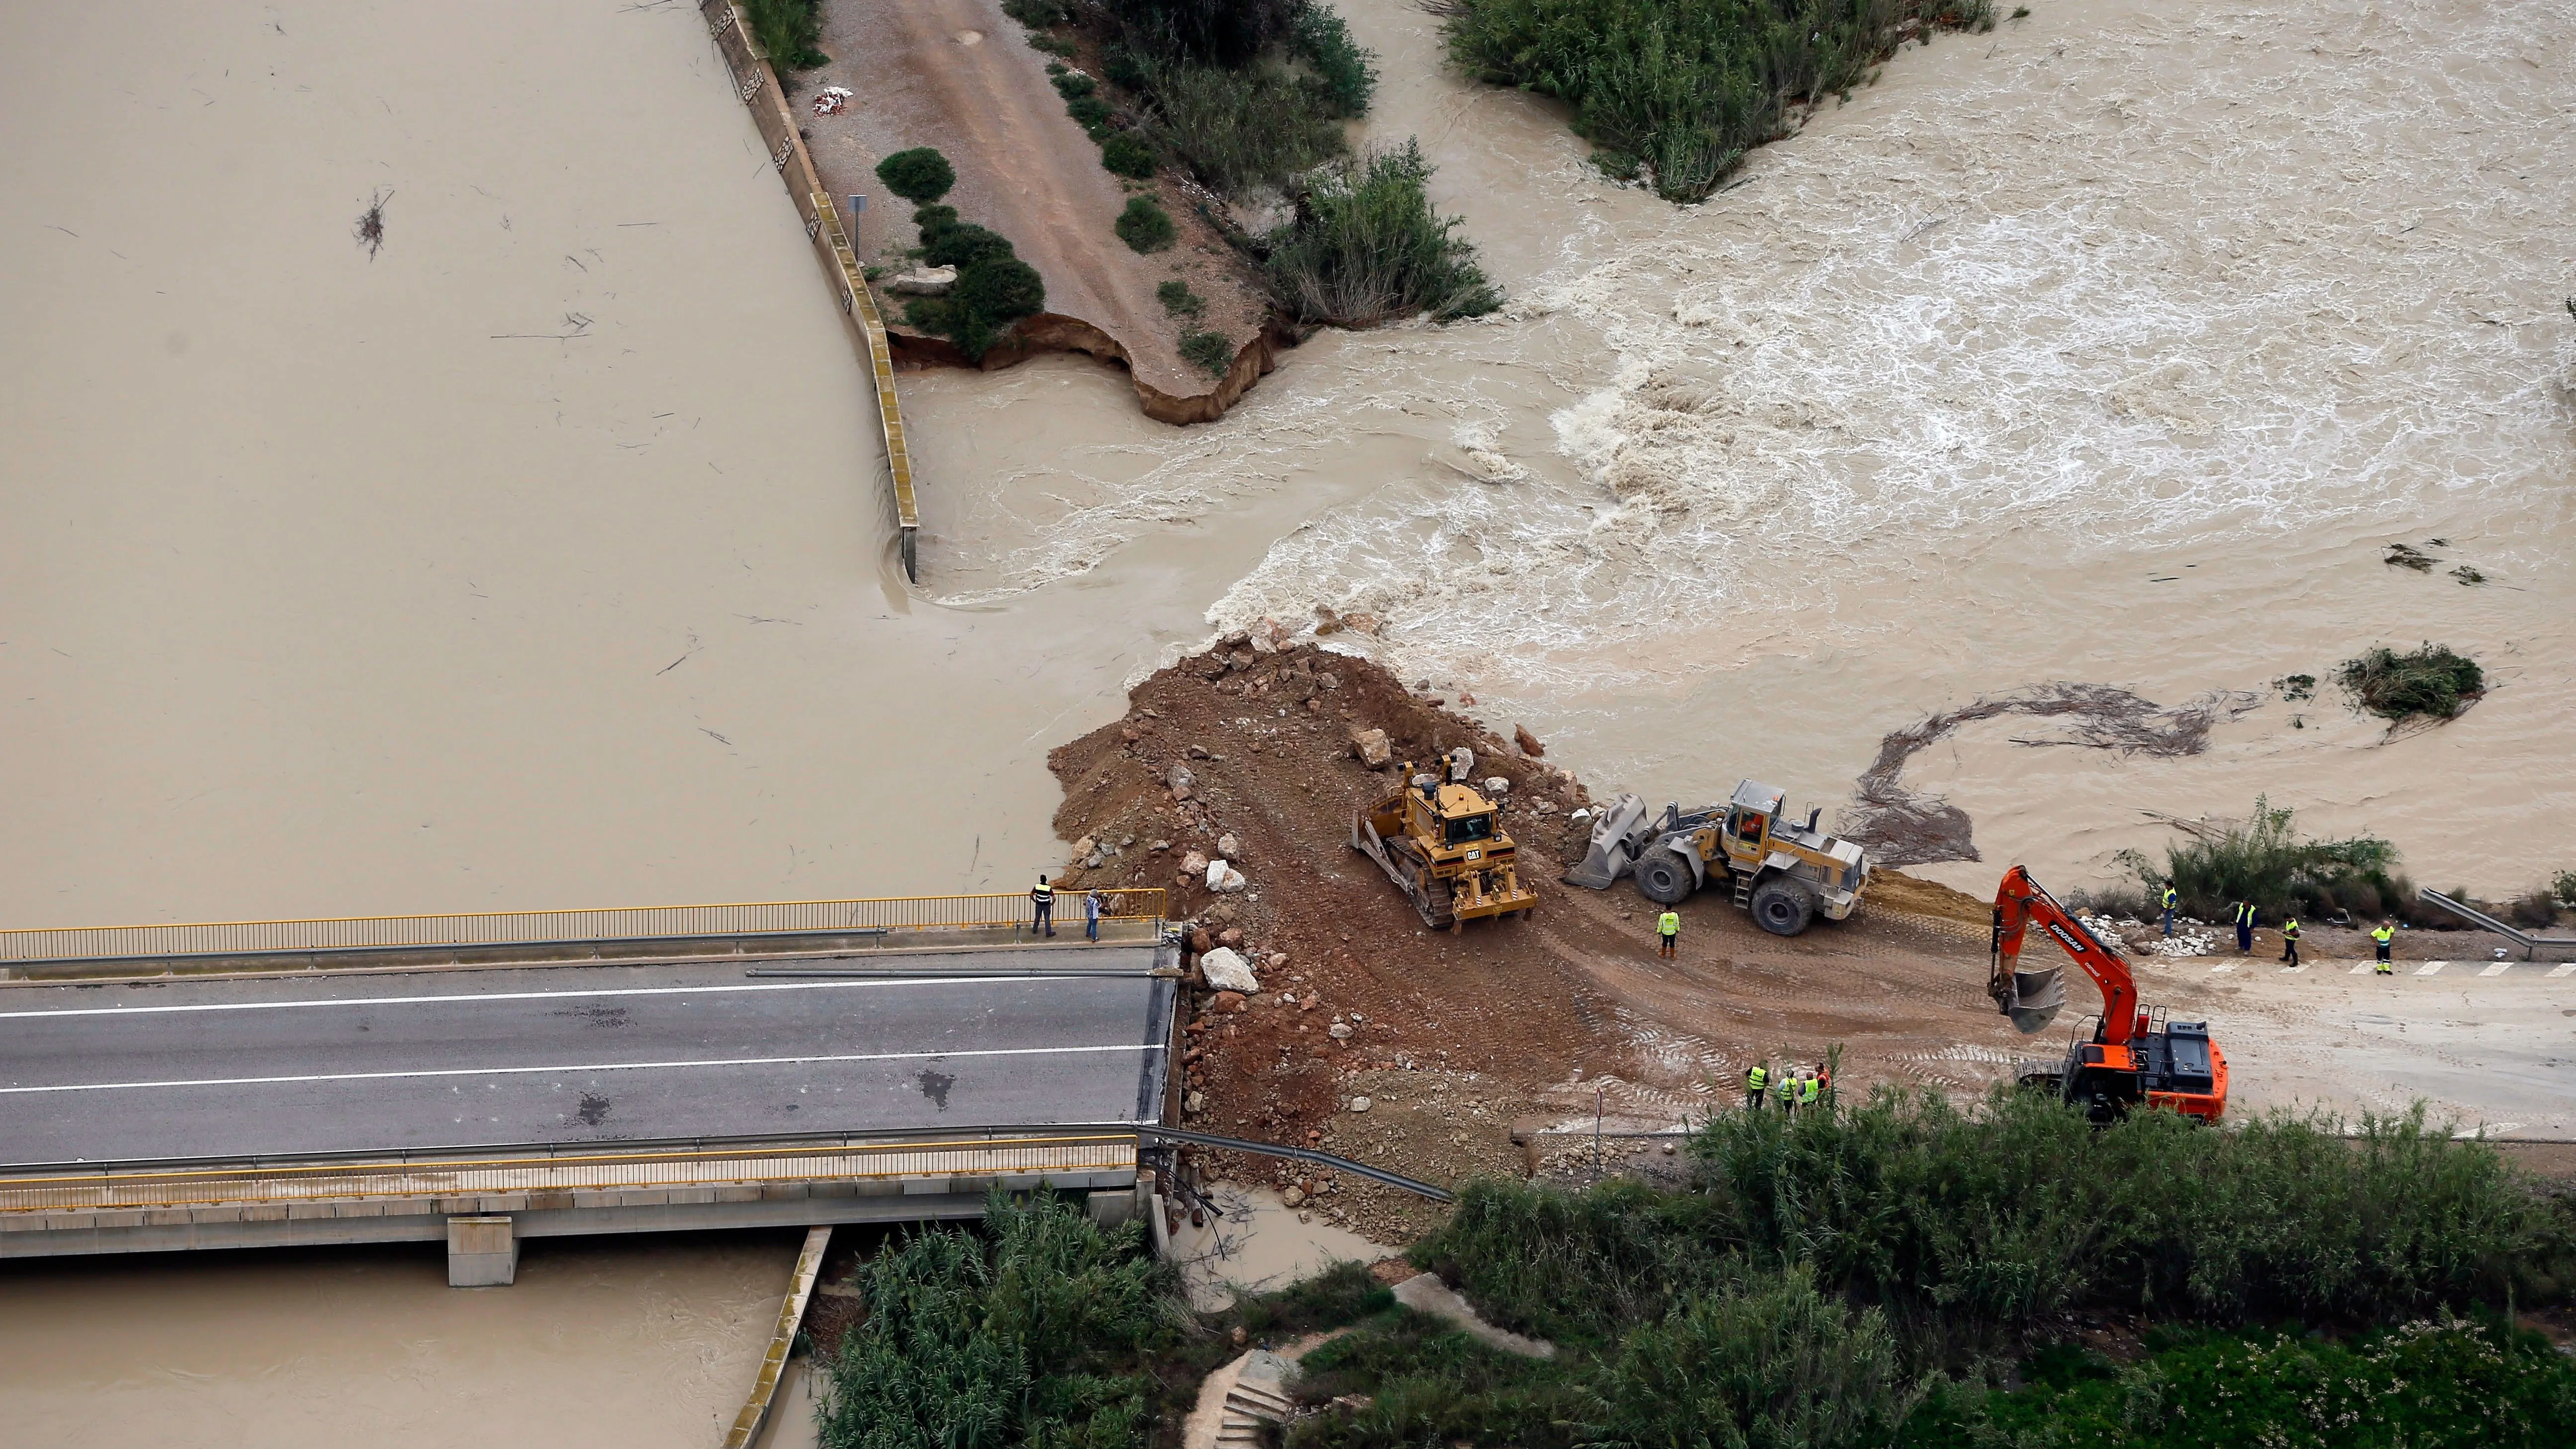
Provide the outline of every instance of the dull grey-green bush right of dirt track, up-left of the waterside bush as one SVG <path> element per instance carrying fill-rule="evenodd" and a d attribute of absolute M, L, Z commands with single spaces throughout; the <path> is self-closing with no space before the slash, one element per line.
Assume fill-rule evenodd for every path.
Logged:
<path fill-rule="evenodd" d="M 1342 124 L 1283 67 L 1146 67 L 1154 137 L 1224 196 L 1283 186 L 1342 152 Z"/>

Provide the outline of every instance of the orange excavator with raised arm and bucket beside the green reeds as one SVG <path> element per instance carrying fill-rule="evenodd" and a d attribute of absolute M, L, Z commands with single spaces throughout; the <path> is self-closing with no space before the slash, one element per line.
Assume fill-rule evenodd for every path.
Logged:
<path fill-rule="evenodd" d="M 2138 1006 L 2128 962 L 2022 866 L 2004 871 L 1994 892 L 1994 964 L 1986 977 L 1986 993 L 2012 1026 L 2040 1031 L 2066 1006 L 2066 967 L 2022 969 L 2022 936 L 2032 920 L 2102 987 L 2102 1018 L 2092 1042 L 2076 1036 L 2066 1044 L 2063 1062 L 2022 1062 L 2020 1083 L 2056 1091 L 2094 1122 L 2112 1122 L 2141 1101 L 2218 1122 L 2228 1109 L 2228 1060 L 2210 1042 L 2210 1024 L 2166 1021 L 2161 1006 Z"/>

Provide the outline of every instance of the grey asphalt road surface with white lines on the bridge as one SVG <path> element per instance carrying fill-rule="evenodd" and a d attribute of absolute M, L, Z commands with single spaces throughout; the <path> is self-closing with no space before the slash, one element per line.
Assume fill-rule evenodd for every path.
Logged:
<path fill-rule="evenodd" d="M 1121 975 L 1015 975 L 1030 967 Z M 1154 946 L 0 987 L 0 1165 L 1157 1122 Z"/>

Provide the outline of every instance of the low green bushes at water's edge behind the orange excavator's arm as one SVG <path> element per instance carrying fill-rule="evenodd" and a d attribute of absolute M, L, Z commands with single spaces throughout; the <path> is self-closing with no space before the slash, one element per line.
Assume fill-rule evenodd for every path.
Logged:
<path fill-rule="evenodd" d="M 2169 846 L 2161 866 L 2138 851 L 2117 856 L 2138 874 L 2146 900 L 2161 897 L 2172 884 L 2184 915 L 2226 920 L 2239 900 L 2259 905 L 2267 920 L 2280 920 L 2285 913 L 2414 910 L 2414 887 L 2393 874 L 2396 846 L 2378 835 L 2311 841 L 2298 833 L 2295 815 L 2267 797 L 2257 797 L 2254 815 L 2241 822 L 2184 830 L 2190 838 Z M 2146 920 L 2143 913 L 2138 918 Z"/>

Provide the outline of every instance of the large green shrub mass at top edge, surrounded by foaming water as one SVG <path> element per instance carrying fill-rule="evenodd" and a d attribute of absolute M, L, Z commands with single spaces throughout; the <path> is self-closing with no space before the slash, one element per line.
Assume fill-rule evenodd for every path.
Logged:
<path fill-rule="evenodd" d="M 1991 0 L 1448 0 L 1476 80 L 1574 106 L 1602 170 L 1700 201 L 1788 106 L 1850 90 L 1909 34 L 1991 28 Z"/>

